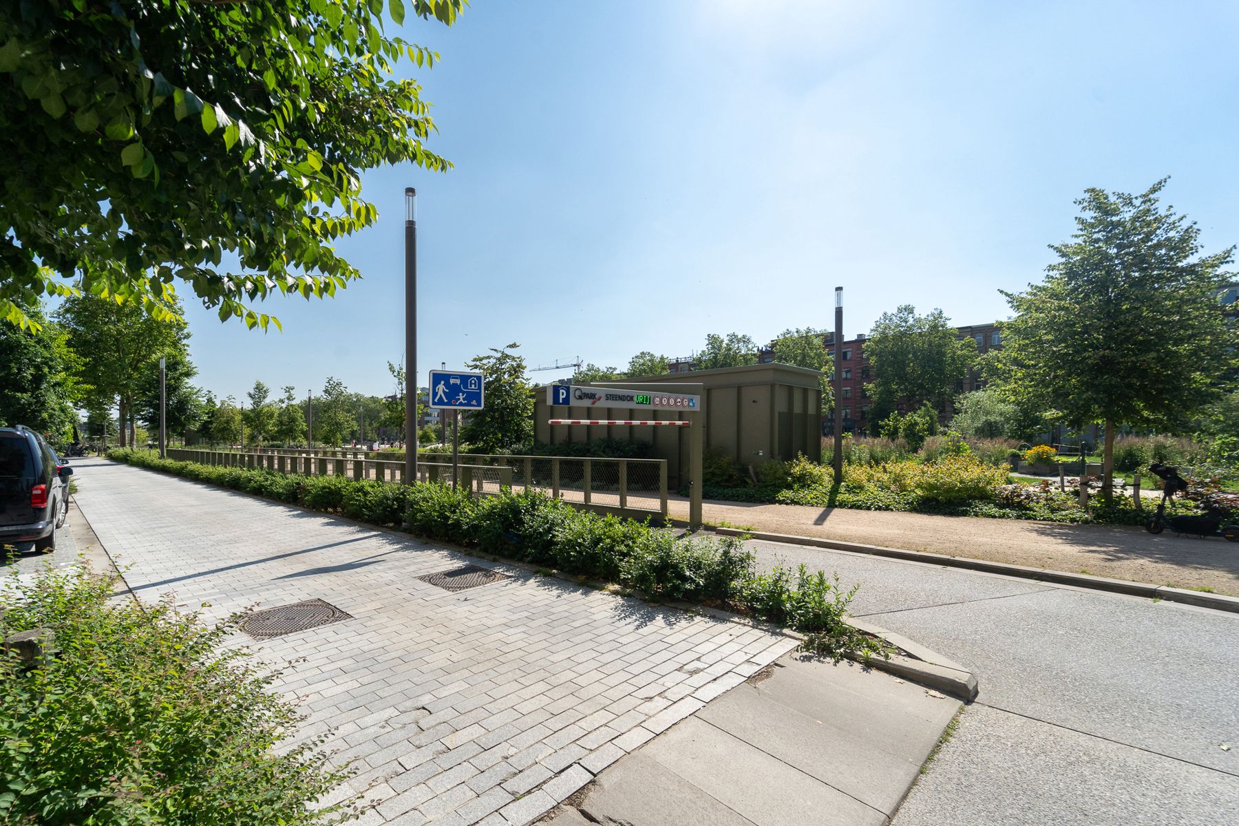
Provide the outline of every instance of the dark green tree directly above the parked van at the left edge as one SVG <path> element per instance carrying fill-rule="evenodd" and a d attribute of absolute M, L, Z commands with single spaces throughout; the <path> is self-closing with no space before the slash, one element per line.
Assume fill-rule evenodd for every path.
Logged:
<path fill-rule="evenodd" d="M 0 425 L 26 425 L 66 440 L 77 421 L 68 334 L 48 326 L 37 305 L 26 315 L 41 332 L 0 324 Z"/>

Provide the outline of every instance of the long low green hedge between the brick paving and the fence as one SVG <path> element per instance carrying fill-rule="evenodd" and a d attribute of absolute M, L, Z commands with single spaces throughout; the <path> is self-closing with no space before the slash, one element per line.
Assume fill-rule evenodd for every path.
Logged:
<path fill-rule="evenodd" d="M 112 451 L 108 458 L 615 582 L 654 598 L 746 613 L 805 634 L 807 649 L 836 661 L 888 654 L 882 640 L 845 622 L 855 587 L 843 589 L 838 576 L 803 565 L 760 572 L 735 537 L 676 539 L 648 521 L 577 510 L 536 492 L 473 499 L 437 483 L 286 476 L 160 459 L 146 451 Z"/>

